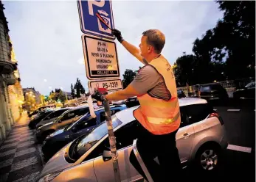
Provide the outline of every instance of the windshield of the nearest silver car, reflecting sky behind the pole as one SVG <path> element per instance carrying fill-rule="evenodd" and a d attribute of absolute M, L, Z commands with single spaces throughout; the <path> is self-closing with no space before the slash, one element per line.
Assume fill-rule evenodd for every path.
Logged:
<path fill-rule="evenodd" d="M 112 116 L 112 123 L 113 128 L 117 128 L 118 125 L 122 124 L 122 122 L 118 120 L 115 115 Z M 94 130 L 92 130 L 88 135 L 78 138 L 77 141 L 74 141 L 75 144 L 74 147 L 70 148 L 72 151 L 69 151 L 69 153 L 71 152 L 71 155 L 69 156 L 75 160 L 79 159 L 106 134 L 108 134 L 108 128 L 104 121 L 97 128 L 94 128 Z"/>

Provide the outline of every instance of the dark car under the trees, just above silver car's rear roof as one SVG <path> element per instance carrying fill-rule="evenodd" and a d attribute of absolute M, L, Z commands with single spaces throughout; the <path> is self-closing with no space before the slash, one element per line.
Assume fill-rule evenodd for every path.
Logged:
<path fill-rule="evenodd" d="M 224 89 L 224 87 L 218 83 L 203 84 L 200 87 L 200 92 L 201 98 L 204 98 L 207 101 L 227 101 L 229 99 L 226 89 Z"/>

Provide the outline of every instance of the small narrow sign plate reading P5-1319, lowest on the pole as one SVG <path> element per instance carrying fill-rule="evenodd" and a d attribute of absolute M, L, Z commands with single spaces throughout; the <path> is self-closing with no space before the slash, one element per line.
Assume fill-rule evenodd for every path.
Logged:
<path fill-rule="evenodd" d="M 121 79 L 88 81 L 88 87 L 91 90 L 94 90 L 95 88 L 104 88 L 108 91 L 122 90 L 123 88 Z"/>

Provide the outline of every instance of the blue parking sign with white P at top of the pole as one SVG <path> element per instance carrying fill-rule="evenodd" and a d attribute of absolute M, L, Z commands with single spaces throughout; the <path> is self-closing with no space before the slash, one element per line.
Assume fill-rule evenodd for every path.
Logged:
<path fill-rule="evenodd" d="M 107 0 L 78 0 L 77 1 L 81 31 L 84 34 L 92 34 L 97 37 L 105 37 L 114 40 L 111 29 L 114 29 L 114 18 L 111 1 Z M 97 18 L 99 13 L 108 26 Z"/>

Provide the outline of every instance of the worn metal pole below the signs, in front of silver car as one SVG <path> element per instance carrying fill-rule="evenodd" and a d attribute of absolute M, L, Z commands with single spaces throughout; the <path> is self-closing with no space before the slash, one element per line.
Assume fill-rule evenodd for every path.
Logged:
<path fill-rule="evenodd" d="M 112 125 L 112 119 L 111 119 L 111 111 L 109 107 L 108 101 L 103 101 L 104 109 L 105 109 L 105 119 L 108 126 L 108 139 L 110 144 L 110 150 L 111 150 L 111 156 L 113 161 L 113 167 L 114 167 L 114 178 L 116 182 L 120 182 L 120 170 L 118 166 L 118 156 L 117 156 L 117 147 L 116 147 L 116 138 L 114 136 L 114 130 Z"/>

